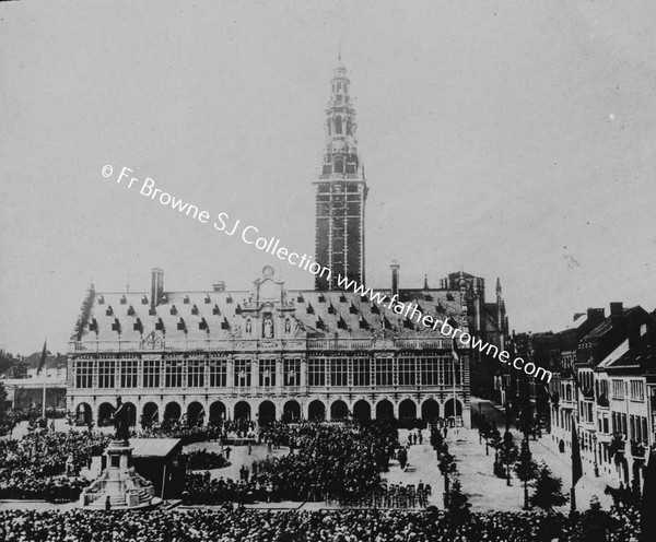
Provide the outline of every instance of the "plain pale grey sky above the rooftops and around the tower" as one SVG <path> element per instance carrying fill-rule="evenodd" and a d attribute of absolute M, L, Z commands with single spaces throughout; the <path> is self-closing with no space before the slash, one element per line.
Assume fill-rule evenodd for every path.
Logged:
<path fill-rule="evenodd" d="M 0 4 L 0 346 L 65 352 L 85 290 L 247 288 L 273 264 L 105 179 L 110 164 L 314 254 L 342 43 L 367 285 L 501 278 L 511 327 L 656 306 L 656 3 Z M 490 299 L 492 301 L 492 299 Z"/>

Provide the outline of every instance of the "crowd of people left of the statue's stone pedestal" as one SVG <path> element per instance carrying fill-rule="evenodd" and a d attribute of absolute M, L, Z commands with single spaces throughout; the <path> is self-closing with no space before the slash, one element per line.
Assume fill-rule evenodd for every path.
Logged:
<path fill-rule="evenodd" d="M 109 437 L 103 433 L 37 429 L 21 439 L 0 440 L 0 498 L 74 499 L 89 481 L 91 466 Z"/>

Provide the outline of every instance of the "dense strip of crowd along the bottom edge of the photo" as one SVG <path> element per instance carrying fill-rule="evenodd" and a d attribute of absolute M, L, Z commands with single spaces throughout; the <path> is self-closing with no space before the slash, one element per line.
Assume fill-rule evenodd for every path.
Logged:
<path fill-rule="evenodd" d="M 605 512 L 616 527 L 589 538 L 586 518 L 560 514 L 481 512 L 466 522 L 448 512 L 411 510 L 0 511 L 5 542 L 629 542 L 635 518 Z"/>

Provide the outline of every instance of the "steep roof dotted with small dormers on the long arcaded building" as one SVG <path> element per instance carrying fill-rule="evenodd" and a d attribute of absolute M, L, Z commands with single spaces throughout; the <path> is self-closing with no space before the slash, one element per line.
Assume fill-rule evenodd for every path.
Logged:
<path fill-rule="evenodd" d="M 388 309 L 386 304 L 375 304 L 368 297 L 352 292 L 284 291 L 292 333 L 296 337 L 335 338 L 374 338 L 383 337 L 384 318 L 387 323 L 387 337 L 441 337 L 438 330 L 418 325 L 413 319 L 410 328 L 406 318 Z M 445 317 L 458 318 L 461 311 L 460 294 L 453 291 L 422 290 L 406 291 L 406 296 L 419 303 L 422 315 L 431 315 L 444 320 Z M 97 325 L 97 340 L 116 341 L 117 323 L 120 327 L 121 341 L 140 341 L 157 323 L 165 329 L 166 339 L 188 340 L 229 340 L 235 337 L 247 339 L 249 296 L 248 291 L 222 292 L 165 292 L 165 302 L 150 314 L 150 293 L 147 292 L 95 292 L 83 328 L 82 341 L 95 341 L 95 331 L 90 326 Z M 406 304 L 408 304 L 407 302 Z M 280 302 L 277 303 L 277 309 Z M 207 329 L 201 329 L 201 322 Z M 143 331 L 134 329 L 141 322 Z M 253 318 L 253 338 L 258 337 L 256 327 L 261 319 Z M 296 322 L 301 326 L 296 327 Z M 138 326 L 137 326 L 138 327 Z M 114 328 L 114 329 L 113 329 Z M 300 332 L 298 332 L 300 330 Z M 280 334 L 280 331 L 277 332 Z M 74 340 L 74 338 L 72 339 Z"/>

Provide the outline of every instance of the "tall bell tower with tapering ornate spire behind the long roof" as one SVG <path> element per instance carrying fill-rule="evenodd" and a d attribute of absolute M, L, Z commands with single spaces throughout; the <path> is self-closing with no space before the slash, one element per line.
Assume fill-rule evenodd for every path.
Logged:
<path fill-rule="evenodd" d="M 316 193 L 315 261 L 330 269 L 331 276 L 328 280 L 316 275 L 316 290 L 339 290 L 340 275 L 364 284 L 367 187 L 358 154 L 351 81 L 341 52 L 330 85 L 324 125 L 326 146 L 320 173 L 313 185 Z"/>

